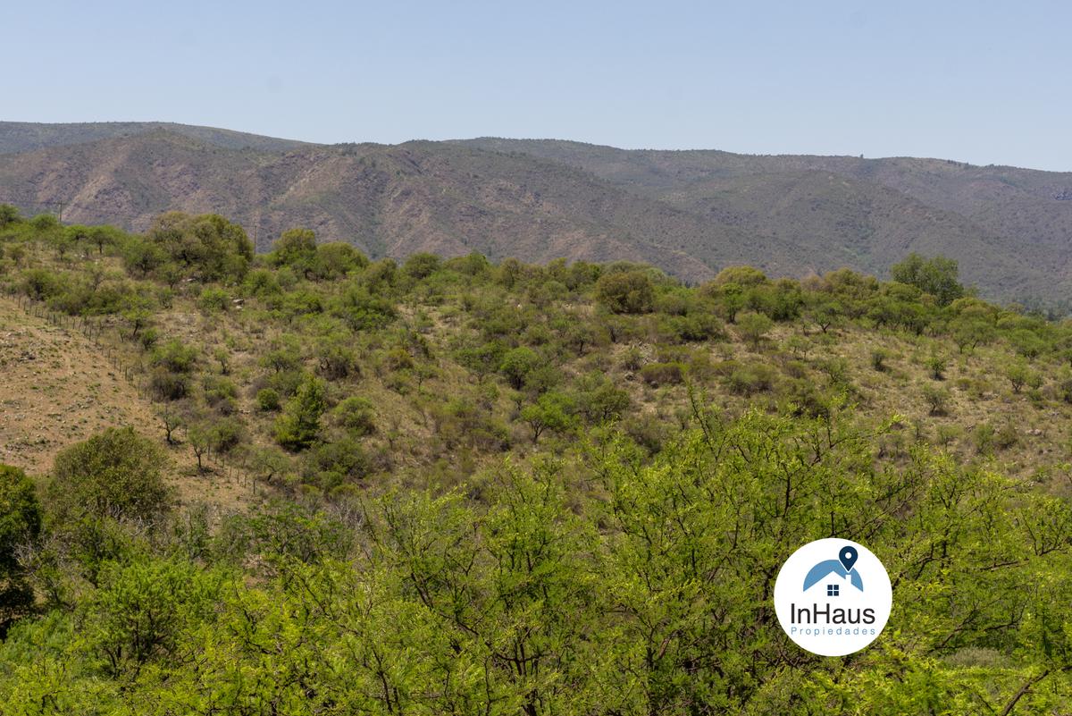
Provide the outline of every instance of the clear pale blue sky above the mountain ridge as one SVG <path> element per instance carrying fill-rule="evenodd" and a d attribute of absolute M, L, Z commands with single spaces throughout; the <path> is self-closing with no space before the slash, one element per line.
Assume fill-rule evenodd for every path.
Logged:
<path fill-rule="evenodd" d="M 0 119 L 1072 170 L 1072 3 L 6 3 Z"/>

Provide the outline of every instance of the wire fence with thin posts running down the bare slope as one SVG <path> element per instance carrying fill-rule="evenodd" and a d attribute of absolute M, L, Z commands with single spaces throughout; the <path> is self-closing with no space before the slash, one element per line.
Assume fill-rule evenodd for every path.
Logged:
<path fill-rule="evenodd" d="M 117 375 L 122 375 L 134 387 L 138 396 L 150 403 L 157 403 L 160 396 L 152 388 L 149 367 L 144 356 L 130 349 L 130 340 L 124 339 L 120 324 L 106 316 L 73 316 L 56 311 L 47 303 L 25 294 L 13 294 L 11 298 L 19 309 L 31 316 L 69 331 L 77 331 L 91 341 Z M 234 484 L 247 488 L 251 494 L 259 494 L 258 480 L 253 471 L 254 462 L 247 451 L 225 453 L 219 450 L 204 450 L 198 459 L 195 448 L 187 445 L 190 462 L 200 466 L 202 473 L 222 476 Z"/>

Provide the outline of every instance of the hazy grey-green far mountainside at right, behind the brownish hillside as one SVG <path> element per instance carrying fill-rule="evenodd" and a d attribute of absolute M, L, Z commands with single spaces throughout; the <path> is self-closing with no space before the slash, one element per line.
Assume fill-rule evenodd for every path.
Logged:
<path fill-rule="evenodd" d="M 881 273 L 890 249 L 911 243 L 915 251 L 955 256 L 984 293 L 1053 299 L 1072 286 L 1072 173 L 935 159 L 623 150 L 560 140 L 488 137 L 461 144 L 562 162 L 768 236 L 795 237 L 803 224 L 827 237 L 831 256 L 863 243 L 868 251 L 857 260 L 874 263 L 847 265 L 869 271 Z M 831 195 L 831 175 L 842 179 L 843 195 Z M 815 196 L 786 210 L 801 190 Z M 1016 287 L 1014 277 L 1025 284 Z"/>

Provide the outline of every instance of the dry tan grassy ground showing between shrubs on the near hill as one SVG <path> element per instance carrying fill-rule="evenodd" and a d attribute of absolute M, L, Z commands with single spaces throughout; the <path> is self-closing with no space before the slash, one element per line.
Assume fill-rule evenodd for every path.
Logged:
<path fill-rule="evenodd" d="M 88 266 L 79 259 L 57 262 L 45 252 L 39 253 L 39 260 L 51 268 L 76 272 Z M 105 259 L 104 264 L 119 270 L 114 258 Z M 330 285 L 326 288 L 331 290 Z M 234 289 L 230 293 L 238 295 Z M 478 379 L 453 358 L 453 348 L 459 344 L 478 345 L 482 340 L 479 320 L 464 308 L 466 295 L 471 294 L 464 286 L 457 286 L 446 300 L 425 299 L 421 292 L 408 295 L 400 302 L 399 318 L 389 330 L 354 337 L 361 375 L 333 382 L 330 396 L 332 402 L 360 396 L 375 406 L 377 431 L 362 441 L 364 449 L 376 456 L 374 471 L 381 472 L 373 482 L 456 484 L 472 479 L 482 467 L 500 463 L 503 453 L 498 447 L 472 443 L 464 435 L 453 435 L 452 429 L 444 429 L 442 421 L 449 416 L 445 417 L 443 408 L 451 401 L 480 406 L 478 413 L 483 419 L 506 424 L 508 452 L 519 460 L 537 452 L 569 452 L 574 441 L 570 435 L 549 432 L 534 445 L 505 382 L 498 377 Z M 169 308 L 157 311 L 154 322 L 162 340 L 179 338 L 197 346 L 203 356 L 202 378 L 219 374 L 211 357 L 221 350 L 226 353 L 228 377 L 239 387 L 239 415 L 249 427 L 251 443 L 260 447 L 272 445 L 276 414 L 259 411 L 255 400 L 257 389 L 270 375 L 260 359 L 276 339 L 295 333 L 306 346 L 304 368 L 315 371 L 316 359 L 311 355 L 315 331 L 303 328 L 301 323 L 284 324 L 271 318 L 257 299 L 247 298 L 244 304 L 221 313 L 199 310 L 195 297 L 196 293 L 180 293 Z M 524 294 L 508 296 L 505 301 L 516 303 L 519 309 L 532 308 Z M 546 311 L 548 323 L 537 318 L 532 328 L 546 329 L 552 318 L 562 315 L 591 319 L 594 308 L 591 299 L 555 302 Z M 14 379 L 4 386 L 5 405 L 13 408 L 5 413 L 17 418 L 6 428 L 10 435 L 6 460 L 31 471 L 44 471 L 58 449 L 109 424 L 136 424 L 163 442 L 153 407 L 138 398 L 121 375 L 117 377 L 101 355 L 94 354 L 91 343 L 77 333 L 55 329 L 18 311 L 10 300 L 4 301 L 3 309 L 3 334 L 9 342 L 3 356 L 15 369 L 11 373 Z M 640 327 L 642 338 L 568 357 L 556 368 L 567 388 L 592 372 L 606 375 L 614 385 L 625 388 L 634 406 L 632 420 L 626 421 L 625 429 L 634 434 L 669 434 L 688 412 L 689 397 L 685 386 L 656 387 L 645 383 L 626 366 L 629 352 L 639 350 L 645 362 L 674 359 L 698 366 L 693 387 L 706 403 L 730 413 L 744 411 L 748 405 L 777 409 L 785 400 L 779 384 L 784 387 L 790 377 L 820 388 L 830 387 L 834 383 L 831 361 L 843 360 L 844 379 L 852 386 L 851 400 L 865 422 L 878 424 L 892 415 L 905 418 L 899 430 L 881 438 L 881 451 L 888 453 L 887 459 L 898 460 L 897 456 L 904 457 L 915 442 L 929 443 L 943 446 L 961 462 L 994 460 L 1003 472 L 1026 480 L 1043 480 L 1047 489 L 1058 493 L 1072 492 L 1072 482 L 1062 467 L 1070 458 L 1072 405 L 1058 398 L 1057 358 L 1034 361 L 1033 370 L 1042 373 L 1045 382 L 1031 399 L 1026 390 L 1014 392 L 1003 377 L 1006 366 L 1015 356 L 1003 342 L 959 354 L 956 345 L 942 335 L 913 335 L 854 324 L 823 333 L 802 317 L 778 324 L 759 348 L 742 341 L 733 326 L 729 327 L 728 340 L 678 346 L 660 340 L 654 329 L 643 328 L 649 325 L 649 317 L 630 320 Z M 118 319 L 108 323 L 120 324 Z M 393 369 L 388 359 L 388 352 L 400 345 L 403 337 L 417 334 L 430 347 L 432 358 L 428 366 L 434 373 L 419 383 L 412 372 Z M 115 329 L 110 335 L 115 337 Z M 524 343 L 525 338 L 520 338 Z M 19 362 L 19 356 L 30 350 L 27 346 L 31 344 L 42 346 L 33 352 L 49 359 Z M 122 364 L 144 361 L 134 344 L 111 345 L 120 352 Z M 889 354 L 882 371 L 873 366 L 873 354 L 878 349 Z M 942 381 L 929 375 L 926 361 L 934 355 L 948 360 Z M 732 390 L 725 371 L 734 361 L 769 366 L 775 385 L 750 397 Z M 924 399 L 928 386 L 948 391 L 944 413 L 930 414 Z M 1009 444 L 983 448 L 978 433 L 980 426 L 1004 430 Z M 34 444 L 39 435 L 44 435 L 45 442 Z M 188 499 L 208 499 L 222 505 L 249 499 L 248 486 L 233 484 L 223 472 L 210 469 L 208 475 L 197 476 L 194 456 L 188 446 L 173 449 L 172 454 L 176 461 L 174 475 Z"/>

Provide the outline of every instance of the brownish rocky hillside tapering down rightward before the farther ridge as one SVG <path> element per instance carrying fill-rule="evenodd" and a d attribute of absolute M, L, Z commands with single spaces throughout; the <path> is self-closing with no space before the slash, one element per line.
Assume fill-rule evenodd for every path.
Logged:
<path fill-rule="evenodd" d="M 793 267 L 791 248 L 587 174 L 432 143 L 274 154 L 158 131 L 0 156 L 0 195 L 21 205 L 62 200 L 66 221 L 134 229 L 162 209 L 214 211 L 245 226 L 259 250 L 286 228 L 308 226 L 322 240 L 345 240 L 376 257 L 434 250 L 628 259 L 694 281 L 729 263 L 751 260 L 773 272 Z"/>

